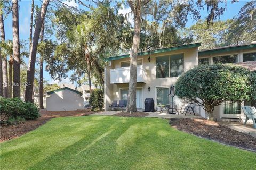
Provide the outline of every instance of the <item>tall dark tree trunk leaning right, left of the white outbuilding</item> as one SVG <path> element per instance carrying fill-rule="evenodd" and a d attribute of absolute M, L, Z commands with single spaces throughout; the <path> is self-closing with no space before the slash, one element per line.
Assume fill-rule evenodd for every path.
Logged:
<path fill-rule="evenodd" d="M 26 86 L 25 91 L 25 101 L 32 102 L 32 96 L 33 96 L 33 86 L 34 86 L 34 79 L 35 79 L 35 61 L 36 61 L 36 52 L 37 52 L 37 46 L 38 46 L 38 40 L 39 35 L 41 32 L 41 27 L 45 18 L 45 14 L 47 11 L 47 7 L 49 5 L 50 0 L 44 0 L 43 4 L 41 6 L 41 12 L 37 16 L 36 20 L 36 27 L 33 37 L 33 43 L 30 48 L 29 53 L 29 64 L 28 64 L 28 70 L 27 70 L 27 83 L 28 86 Z"/>

